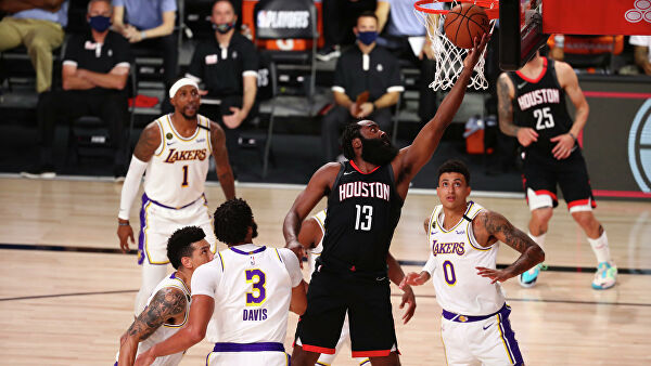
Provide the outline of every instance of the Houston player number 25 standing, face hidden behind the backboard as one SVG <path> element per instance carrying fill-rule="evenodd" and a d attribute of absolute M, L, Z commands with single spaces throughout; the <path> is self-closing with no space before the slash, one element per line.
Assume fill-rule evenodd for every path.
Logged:
<path fill-rule="evenodd" d="M 615 285 L 617 267 L 601 223 L 592 214 L 588 171 L 576 136 L 588 119 L 589 107 L 576 74 L 566 63 L 536 54 L 516 73 L 500 75 L 497 83 L 499 127 L 518 138 L 524 148 L 524 187 L 532 211 L 529 236 L 544 248 L 552 209 L 558 206 L 557 184 L 572 218 L 584 230 L 597 256 L 593 289 Z M 574 121 L 565 95 L 576 108 Z M 520 275 L 523 287 L 536 284 L 540 264 Z"/>

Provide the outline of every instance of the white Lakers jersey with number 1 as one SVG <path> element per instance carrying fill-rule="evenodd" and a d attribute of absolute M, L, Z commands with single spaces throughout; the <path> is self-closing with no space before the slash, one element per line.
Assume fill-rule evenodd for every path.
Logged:
<path fill-rule="evenodd" d="M 201 115 L 196 119 L 199 126 L 188 139 L 175 130 L 171 115 L 156 119 L 162 141 L 146 167 L 144 193 L 171 208 L 189 205 L 204 193 L 213 152 L 210 121 Z"/>

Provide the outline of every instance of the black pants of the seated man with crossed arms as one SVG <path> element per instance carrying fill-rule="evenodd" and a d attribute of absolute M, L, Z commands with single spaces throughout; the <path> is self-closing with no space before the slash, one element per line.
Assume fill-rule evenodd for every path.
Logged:
<path fill-rule="evenodd" d="M 42 93 L 38 101 L 37 118 L 41 162 L 52 165 L 54 127 L 58 120 L 73 121 L 82 116 L 99 117 L 106 123 L 115 166 L 124 166 L 127 144 L 124 123 L 127 120 L 127 95 L 117 90 L 64 90 Z"/>

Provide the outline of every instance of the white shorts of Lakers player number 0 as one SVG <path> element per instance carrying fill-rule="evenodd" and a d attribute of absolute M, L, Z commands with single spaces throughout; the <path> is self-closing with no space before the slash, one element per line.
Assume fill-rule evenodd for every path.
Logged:
<path fill-rule="evenodd" d="M 515 335 L 505 305 L 497 314 L 482 321 L 462 323 L 445 317 L 441 336 L 448 365 L 523 365 Z M 463 316 L 460 316 L 463 318 Z"/>

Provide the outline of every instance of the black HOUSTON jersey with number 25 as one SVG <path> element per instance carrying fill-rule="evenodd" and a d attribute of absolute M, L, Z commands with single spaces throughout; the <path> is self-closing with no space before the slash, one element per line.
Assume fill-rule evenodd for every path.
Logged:
<path fill-rule="evenodd" d="M 572 128 L 572 118 L 565 105 L 565 91 L 557 78 L 553 60 L 544 58 L 542 71 L 537 79 L 529 79 L 520 71 L 508 73 L 515 97 L 513 121 L 520 127 L 529 127 L 538 133 L 538 141 L 527 147 L 527 153 L 540 157 L 553 157 L 556 145 L 549 141 Z"/>

